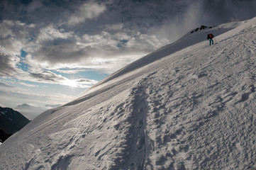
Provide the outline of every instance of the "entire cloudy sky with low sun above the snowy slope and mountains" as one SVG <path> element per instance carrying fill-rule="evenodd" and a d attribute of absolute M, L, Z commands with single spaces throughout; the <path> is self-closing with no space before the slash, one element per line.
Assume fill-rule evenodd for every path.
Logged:
<path fill-rule="evenodd" d="M 256 16 L 253 0 L 0 2 L 0 106 L 53 108 L 189 30 Z"/>

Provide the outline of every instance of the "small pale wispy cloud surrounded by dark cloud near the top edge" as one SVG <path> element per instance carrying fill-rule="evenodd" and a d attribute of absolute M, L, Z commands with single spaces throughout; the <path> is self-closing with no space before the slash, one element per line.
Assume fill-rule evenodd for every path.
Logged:
<path fill-rule="evenodd" d="M 90 1 L 80 6 L 79 10 L 68 18 L 67 24 L 69 26 L 75 26 L 79 23 L 83 23 L 87 19 L 98 17 L 105 10 L 106 7 L 104 5 Z"/>

